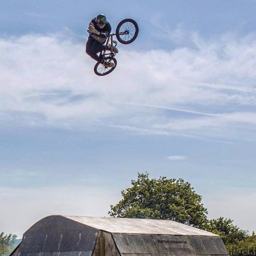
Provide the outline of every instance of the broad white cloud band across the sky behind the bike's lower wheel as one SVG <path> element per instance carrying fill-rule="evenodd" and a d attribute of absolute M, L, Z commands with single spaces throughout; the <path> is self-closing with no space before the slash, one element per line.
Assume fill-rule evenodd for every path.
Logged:
<path fill-rule="evenodd" d="M 100 123 L 158 135 L 255 129 L 255 35 L 205 41 L 191 33 L 196 47 L 171 51 L 119 44 L 116 69 L 99 77 L 84 44 L 66 33 L 0 38 L 1 119 L 19 113 L 28 125 Z"/>

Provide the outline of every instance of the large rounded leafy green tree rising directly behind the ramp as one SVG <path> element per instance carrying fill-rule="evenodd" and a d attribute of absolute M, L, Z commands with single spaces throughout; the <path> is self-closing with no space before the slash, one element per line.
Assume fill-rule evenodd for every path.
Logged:
<path fill-rule="evenodd" d="M 121 191 L 122 199 L 110 205 L 112 217 L 170 219 L 195 227 L 204 227 L 207 210 L 190 183 L 183 179 L 138 173 L 131 187 Z"/>

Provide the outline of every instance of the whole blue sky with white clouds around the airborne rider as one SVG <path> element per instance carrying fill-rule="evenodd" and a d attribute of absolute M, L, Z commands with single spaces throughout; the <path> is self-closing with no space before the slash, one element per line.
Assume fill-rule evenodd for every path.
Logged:
<path fill-rule="evenodd" d="M 108 216 L 137 173 L 183 178 L 208 218 L 256 230 L 255 0 L 0 0 L 0 231 Z M 93 72 L 104 13 L 117 66 Z"/>

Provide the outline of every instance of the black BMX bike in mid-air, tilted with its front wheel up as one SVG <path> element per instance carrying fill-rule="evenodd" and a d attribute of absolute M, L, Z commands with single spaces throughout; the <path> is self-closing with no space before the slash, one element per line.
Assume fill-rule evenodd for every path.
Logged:
<path fill-rule="evenodd" d="M 101 62 L 97 62 L 94 66 L 94 73 L 96 75 L 106 75 L 114 70 L 116 67 L 117 61 L 114 57 L 116 53 L 113 52 L 112 47 L 110 47 L 110 52 L 107 50 L 107 45 L 110 42 L 110 46 L 116 46 L 117 41 L 113 40 L 113 36 L 116 36 L 116 39 L 123 44 L 129 44 L 133 42 L 138 35 L 138 24 L 135 20 L 131 18 L 125 18 L 121 20 L 116 26 L 115 33 L 107 34 L 105 41 L 104 49 L 99 53 L 99 57 L 104 59 L 107 62 L 114 62 L 114 66 L 109 67 L 105 66 Z"/>

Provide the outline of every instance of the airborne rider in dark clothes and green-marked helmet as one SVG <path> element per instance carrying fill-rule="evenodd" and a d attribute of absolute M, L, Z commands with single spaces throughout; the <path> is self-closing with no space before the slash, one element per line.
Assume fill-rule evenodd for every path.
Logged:
<path fill-rule="evenodd" d="M 86 42 L 85 52 L 97 62 L 101 62 L 104 66 L 113 67 L 115 64 L 113 62 L 104 61 L 98 56 L 101 50 L 104 49 L 104 42 L 107 38 L 107 34 L 111 32 L 111 25 L 106 20 L 104 14 L 98 14 L 96 17 L 92 18 L 88 26 L 89 37 Z M 111 50 L 117 53 L 118 50 L 115 46 L 107 45 L 107 50 Z"/>

